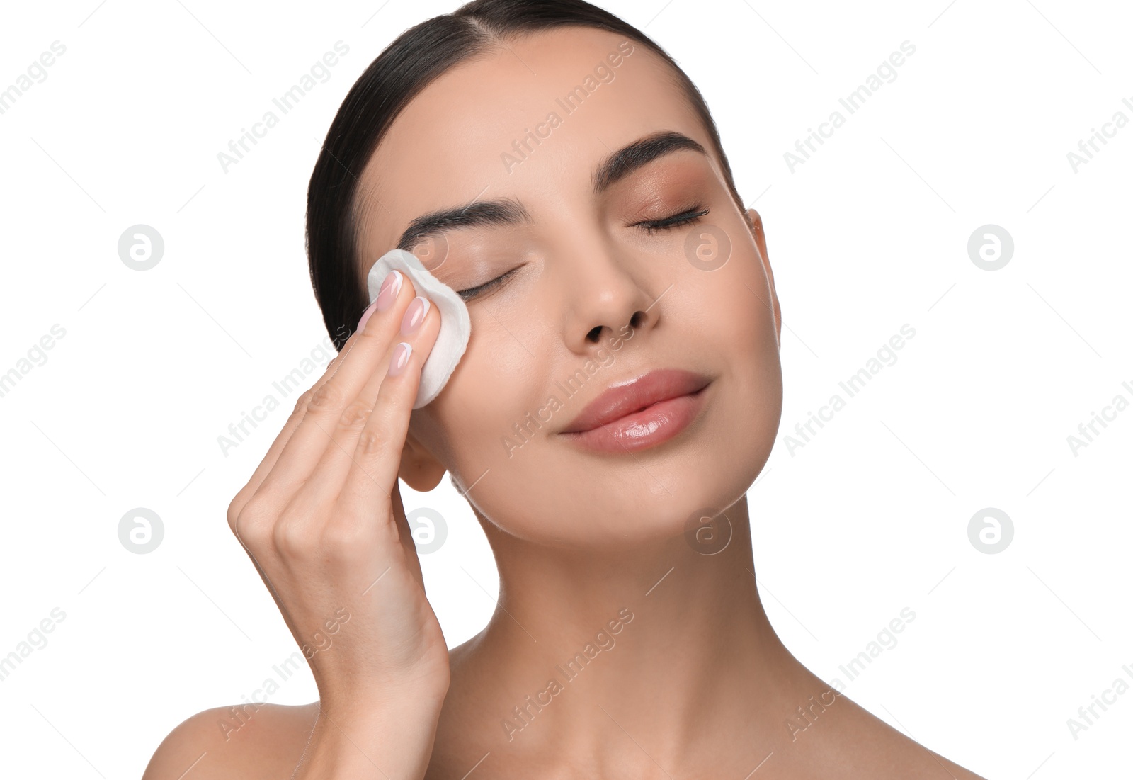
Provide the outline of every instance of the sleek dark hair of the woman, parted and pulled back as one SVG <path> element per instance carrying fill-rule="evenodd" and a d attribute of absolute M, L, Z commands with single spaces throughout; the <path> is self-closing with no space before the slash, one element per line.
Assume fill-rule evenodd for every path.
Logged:
<path fill-rule="evenodd" d="M 393 120 L 453 66 L 487 53 L 501 42 L 565 25 L 617 33 L 672 66 L 673 83 L 704 122 L 732 197 L 740 211 L 746 211 L 704 96 L 648 36 L 585 0 L 474 0 L 399 35 L 350 87 L 326 133 L 307 188 L 307 260 L 315 299 L 335 349 L 342 349 L 369 304 L 359 262 L 363 206 L 358 173 Z"/>

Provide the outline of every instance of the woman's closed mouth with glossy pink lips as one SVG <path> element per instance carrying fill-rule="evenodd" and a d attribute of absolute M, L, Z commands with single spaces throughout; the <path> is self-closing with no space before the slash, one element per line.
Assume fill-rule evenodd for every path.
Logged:
<path fill-rule="evenodd" d="M 679 368 L 648 372 L 605 390 L 559 435 L 607 452 L 654 447 L 697 418 L 710 382 L 709 376 Z"/>

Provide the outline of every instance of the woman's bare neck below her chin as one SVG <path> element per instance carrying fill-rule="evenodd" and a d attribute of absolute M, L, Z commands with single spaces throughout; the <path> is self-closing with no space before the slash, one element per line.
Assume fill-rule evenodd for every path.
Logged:
<path fill-rule="evenodd" d="M 758 753 L 752 720 L 766 723 L 768 743 L 786 735 L 784 721 L 825 686 L 767 620 L 747 499 L 726 515 L 731 537 L 714 554 L 684 534 L 616 552 L 564 551 L 484 524 L 500 569 L 499 605 L 454 653 L 450 688 L 462 727 L 476 723 L 491 743 L 480 754 L 521 761 L 553 745 L 613 760 L 632 747 L 630 737 L 642 768 L 672 774 L 704 760 L 690 746 L 726 740 Z"/>

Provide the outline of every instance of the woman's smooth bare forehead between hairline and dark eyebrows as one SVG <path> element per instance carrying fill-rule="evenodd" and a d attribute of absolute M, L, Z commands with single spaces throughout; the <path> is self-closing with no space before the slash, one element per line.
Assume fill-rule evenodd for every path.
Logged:
<path fill-rule="evenodd" d="M 537 212 L 590 197 L 599 160 L 661 129 L 709 149 L 672 69 L 639 43 L 572 26 L 494 46 L 431 83 L 383 137 L 359 177 L 361 263 L 432 211 L 518 197 Z"/>

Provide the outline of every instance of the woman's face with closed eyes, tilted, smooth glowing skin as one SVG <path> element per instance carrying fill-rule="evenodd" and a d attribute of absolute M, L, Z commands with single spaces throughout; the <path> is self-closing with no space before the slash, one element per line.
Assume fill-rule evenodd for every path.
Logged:
<path fill-rule="evenodd" d="M 468 299 L 468 348 L 412 413 L 411 441 L 517 537 L 608 550 L 680 534 L 698 510 L 742 498 L 770 453 L 770 269 L 659 59 L 585 27 L 509 45 L 425 88 L 360 177 L 364 278 L 419 217 L 510 204 L 472 205 L 459 227 L 411 241 L 454 290 L 511 272 Z M 705 153 L 678 144 L 596 179 L 627 145 L 666 133 Z M 688 212 L 707 213 L 645 224 Z M 710 379 L 675 436 L 599 451 L 562 433 L 612 384 L 661 368 Z"/>

